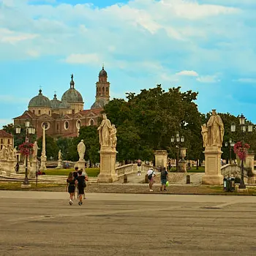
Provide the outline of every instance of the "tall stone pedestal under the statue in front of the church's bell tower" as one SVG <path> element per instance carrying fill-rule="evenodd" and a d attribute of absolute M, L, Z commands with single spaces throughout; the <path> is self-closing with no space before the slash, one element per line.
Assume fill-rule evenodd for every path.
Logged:
<path fill-rule="evenodd" d="M 100 148 L 100 173 L 97 181 L 99 183 L 110 183 L 118 180 L 116 174 L 116 150 L 110 147 Z"/>

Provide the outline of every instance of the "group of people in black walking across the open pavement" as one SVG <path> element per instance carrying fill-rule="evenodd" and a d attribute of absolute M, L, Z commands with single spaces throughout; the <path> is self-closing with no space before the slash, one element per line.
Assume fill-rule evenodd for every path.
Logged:
<path fill-rule="evenodd" d="M 83 199 L 86 199 L 84 194 L 86 181 L 88 181 L 88 176 L 83 172 L 83 169 L 78 170 L 78 167 L 75 167 L 75 171 L 69 173 L 66 191 L 69 192 L 70 206 L 72 206 L 73 199 L 75 199 L 75 190 L 77 190 L 78 193 L 78 205 L 81 206 L 83 204 Z"/>

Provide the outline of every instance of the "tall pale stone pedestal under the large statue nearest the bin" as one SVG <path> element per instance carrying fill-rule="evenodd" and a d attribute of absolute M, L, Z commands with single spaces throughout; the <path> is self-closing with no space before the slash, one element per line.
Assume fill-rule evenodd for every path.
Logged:
<path fill-rule="evenodd" d="M 223 176 L 221 174 L 222 151 L 217 146 L 206 147 L 205 154 L 205 176 L 202 178 L 203 184 L 222 185 Z"/>

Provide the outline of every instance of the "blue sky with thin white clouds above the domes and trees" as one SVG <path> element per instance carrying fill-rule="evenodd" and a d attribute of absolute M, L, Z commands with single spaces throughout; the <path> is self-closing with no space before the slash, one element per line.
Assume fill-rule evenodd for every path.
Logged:
<path fill-rule="evenodd" d="M 256 123 L 255 0 L 0 0 L 0 128 L 74 74 L 89 109 L 104 63 L 111 98 L 162 84 L 201 113 Z"/>

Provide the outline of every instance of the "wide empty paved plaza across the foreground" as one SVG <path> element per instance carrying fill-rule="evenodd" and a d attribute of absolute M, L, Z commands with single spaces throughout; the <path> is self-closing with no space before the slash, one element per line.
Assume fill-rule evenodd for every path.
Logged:
<path fill-rule="evenodd" d="M 0 255 L 255 255 L 256 197 L 0 191 Z"/>

